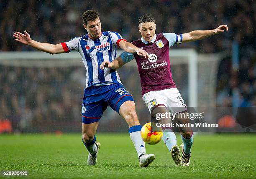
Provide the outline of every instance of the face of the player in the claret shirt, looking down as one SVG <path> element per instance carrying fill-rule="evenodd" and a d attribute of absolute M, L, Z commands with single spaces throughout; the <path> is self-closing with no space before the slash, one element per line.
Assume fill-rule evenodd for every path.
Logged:
<path fill-rule="evenodd" d="M 141 36 L 147 42 L 150 42 L 156 33 L 156 24 L 154 22 L 141 23 L 139 25 L 139 31 L 141 33 Z"/>

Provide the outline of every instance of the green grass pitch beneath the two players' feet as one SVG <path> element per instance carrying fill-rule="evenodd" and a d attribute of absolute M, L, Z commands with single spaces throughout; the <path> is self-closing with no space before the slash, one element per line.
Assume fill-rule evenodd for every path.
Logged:
<path fill-rule="evenodd" d="M 97 164 L 87 166 L 88 153 L 79 134 L 0 135 L 0 171 L 28 171 L 35 179 L 256 178 L 255 134 L 196 135 L 187 167 L 174 164 L 163 142 L 146 145 L 156 159 L 140 168 L 129 134 L 97 134 L 97 141 L 101 142 Z"/>

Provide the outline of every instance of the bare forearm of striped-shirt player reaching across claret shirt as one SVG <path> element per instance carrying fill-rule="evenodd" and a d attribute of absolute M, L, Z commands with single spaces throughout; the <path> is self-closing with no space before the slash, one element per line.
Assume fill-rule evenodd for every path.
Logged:
<path fill-rule="evenodd" d="M 121 40 L 119 42 L 119 47 L 122 48 L 123 50 L 125 50 L 125 52 L 137 53 L 138 55 L 140 55 L 142 57 L 149 58 L 149 55 L 145 50 L 142 50 L 142 49 L 136 47 L 135 45 L 133 45 L 132 43 L 126 42 L 124 40 Z"/>

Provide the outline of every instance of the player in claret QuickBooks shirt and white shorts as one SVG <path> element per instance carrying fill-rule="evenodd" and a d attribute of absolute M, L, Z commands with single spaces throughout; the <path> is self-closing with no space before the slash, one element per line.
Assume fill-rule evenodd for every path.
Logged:
<path fill-rule="evenodd" d="M 139 55 L 124 52 L 112 62 L 103 62 L 100 68 L 120 68 L 125 63 L 135 58 L 141 77 L 142 98 L 151 115 L 155 113 L 155 111 L 161 111 L 161 113 L 168 111 L 172 113 L 187 113 L 187 106 L 172 79 L 169 48 L 174 44 L 200 40 L 211 35 L 222 33 L 228 30 L 228 26 L 220 25 L 214 30 L 195 30 L 179 35 L 175 33 L 155 34 L 155 20 L 148 14 L 139 18 L 138 25 L 138 30 L 142 37 L 141 39 L 133 41 L 132 44 L 146 50 L 149 54 L 149 58 L 145 59 Z M 171 151 L 175 164 L 188 166 L 190 164 L 190 153 L 193 144 L 192 130 L 186 129 L 181 131 L 183 142 L 181 145 L 181 155 L 172 128 L 162 127 L 162 129 L 164 131 L 163 141 L 169 151 Z"/>

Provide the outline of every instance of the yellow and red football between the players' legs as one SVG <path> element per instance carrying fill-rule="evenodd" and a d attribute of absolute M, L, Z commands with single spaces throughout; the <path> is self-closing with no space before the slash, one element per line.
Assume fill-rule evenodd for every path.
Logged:
<path fill-rule="evenodd" d="M 153 123 L 152 123 L 153 124 Z M 144 124 L 141 128 L 141 138 L 146 144 L 154 145 L 161 141 L 163 131 L 160 127 L 156 127 L 156 124 L 151 126 L 151 122 Z"/>

